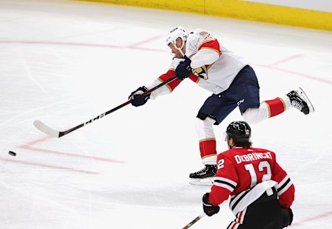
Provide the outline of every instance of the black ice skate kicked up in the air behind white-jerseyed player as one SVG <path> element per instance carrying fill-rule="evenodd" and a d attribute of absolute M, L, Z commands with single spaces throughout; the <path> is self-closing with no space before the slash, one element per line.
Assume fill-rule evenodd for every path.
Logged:
<path fill-rule="evenodd" d="M 299 88 L 298 90 L 292 90 L 286 95 L 291 100 L 292 106 L 304 113 L 304 115 L 308 115 L 308 113 L 315 111 L 313 104 L 308 99 L 302 88 Z"/>

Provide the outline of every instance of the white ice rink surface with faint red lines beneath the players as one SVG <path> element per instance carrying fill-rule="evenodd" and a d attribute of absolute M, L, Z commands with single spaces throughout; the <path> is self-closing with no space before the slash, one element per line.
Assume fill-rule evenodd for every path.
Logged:
<path fill-rule="evenodd" d="M 183 228 L 202 212 L 196 113 L 210 95 L 184 81 L 145 106 L 127 101 L 167 71 L 169 28 L 203 28 L 250 61 L 261 101 L 301 86 L 315 106 L 252 126 L 254 146 L 277 154 L 293 179 L 289 228 L 332 226 L 332 33 L 198 14 L 75 1 L 0 1 L 0 228 Z M 222 134 L 239 110 L 215 128 Z M 8 150 L 17 152 L 16 157 Z M 192 228 L 226 228 L 228 204 Z"/>

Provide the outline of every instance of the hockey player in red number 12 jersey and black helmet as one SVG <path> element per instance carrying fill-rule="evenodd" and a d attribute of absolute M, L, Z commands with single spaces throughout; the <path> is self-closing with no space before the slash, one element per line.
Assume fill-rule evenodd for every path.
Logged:
<path fill-rule="evenodd" d="M 252 148 L 251 129 L 233 121 L 225 132 L 230 150 L 218 155 L 211 192 L 203 195 L 203 210 L 212 216 L 230 198 L 236 219 L 228 229 L 281 229 L 291 225 L 295 188 L 270 150 Z"/>

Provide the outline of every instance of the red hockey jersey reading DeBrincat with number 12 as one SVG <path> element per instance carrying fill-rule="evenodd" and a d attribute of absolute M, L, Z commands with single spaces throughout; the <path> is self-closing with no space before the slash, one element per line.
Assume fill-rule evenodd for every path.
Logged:
<path fill-rule="evenodd" d="M 279 166 L 275 153 L 259 148 L 232 148 L 217 157 L 218 171 L 210 192 L 210 202 L 219 205 L 230 198 L 234 213 L 244 210 L 266 190 L 275 187 L 279 201 L 289 208 L 295 188 Z"/>

